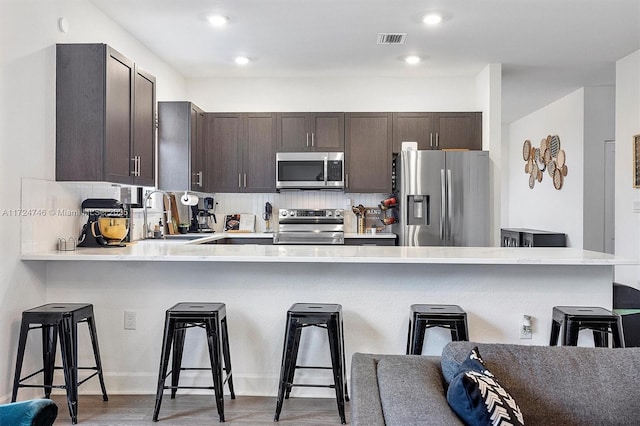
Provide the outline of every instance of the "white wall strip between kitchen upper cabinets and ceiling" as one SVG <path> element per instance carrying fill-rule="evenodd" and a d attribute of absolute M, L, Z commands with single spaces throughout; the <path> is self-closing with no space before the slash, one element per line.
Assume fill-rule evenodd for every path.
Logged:
<path fill-rule="evenodd" d="M 478 111 L 474 78 L 216 78 L 187 81 L 209 112 Z"/>

